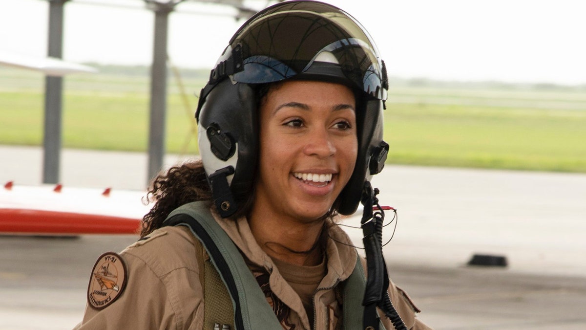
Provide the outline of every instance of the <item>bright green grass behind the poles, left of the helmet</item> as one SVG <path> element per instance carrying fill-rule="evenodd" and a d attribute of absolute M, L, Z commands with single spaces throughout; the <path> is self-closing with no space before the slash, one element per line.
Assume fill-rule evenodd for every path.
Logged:
<path fill-rule="evenodd" d="M 0 92 L 0 144 L 40 145 L 43 97 L 39 92 Z M 192 102 L 195 106 L 195 102 Z M 149 99 L 145 94 L 79 95 L 63 99 L 63 146 L 80 149 L 143 151 L 148 143 Z M 190 132 L 179 95 L 168 97 L 166 146 L 177 153 Z M 189 152 L 195 152 L 192 142 Z"/>

